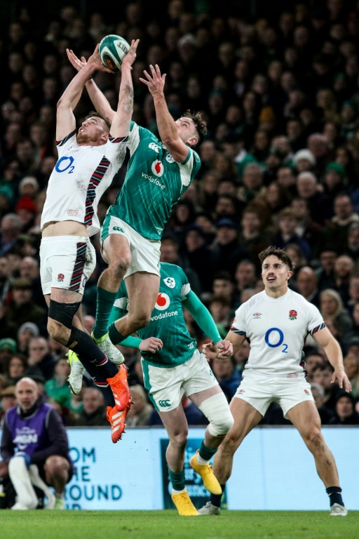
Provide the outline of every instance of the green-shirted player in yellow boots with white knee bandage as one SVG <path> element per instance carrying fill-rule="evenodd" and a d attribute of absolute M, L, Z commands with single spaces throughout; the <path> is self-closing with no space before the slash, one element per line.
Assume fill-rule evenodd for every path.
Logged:
<path fill-rule="evenodd" d="M 184 479 L 184 451 L 187 444 L 188 425 L 181 403 L 185 394 L 200 408 L 209 420 L 201 448 L 190 460 L 191 467 L 201 475 L 210 493 L 222 493 L 209 465 L 210 458 L 229 432 L 233 418 L 229 404 L 208 365 L 208 361 L 196 348 L 184 321 L 183 308 L 192 314 L 198 326 L 208 335 L 222 357 L 231 357 L 228 341 L 219 336 L 210 312 L 191 291 L 182 268 L 161 263 L 161 280 L 156 304 L 147 326 L 129 336 L 121 345 L 136 347 L 141 351 L 144 385 L 149 399 L 158 411 L 170 439 L 166 451 L 172 500 L 182 516 L 196 515 L 189 498 Z M 126 316 L 130 308 L 125 281 L 118 290 L 110 323 Z M 153 335 L 156 335 L 154 337 Z M 117 437 L 116 428 L 123 431 L 123 422 L 112 422 L 111 430 Z"/>

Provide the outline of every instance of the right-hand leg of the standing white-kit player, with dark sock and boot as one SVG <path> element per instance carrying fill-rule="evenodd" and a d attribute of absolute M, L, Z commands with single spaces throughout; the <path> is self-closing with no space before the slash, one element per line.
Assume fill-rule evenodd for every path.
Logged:
<path fill-rule="evenodd" d="M 348 512 L 341 498 L 337 465 L 320 430 L 320 417 L 316 405 L 311 401 L 301 402 L 293 406 L 287 412 L 287 416 L 314 457 L 318 476 L 323 481 L 327 495 L 330 497 L 332 509 L 330 514 L 334 517 L 345 517 Z"/>

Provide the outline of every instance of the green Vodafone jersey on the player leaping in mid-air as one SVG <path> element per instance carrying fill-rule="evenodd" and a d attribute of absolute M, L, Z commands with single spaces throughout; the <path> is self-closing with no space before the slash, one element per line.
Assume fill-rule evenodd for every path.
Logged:
<path fill-rule="evenodd" d="M 172 206 L 182 197 L 201 167 L 201 159 L 189 148 L 179 164 L 148 129 L 131 122 L 128 141 L 130 161 L 123 187 L 109 207 L 144 238 L 161 239 Z"/>

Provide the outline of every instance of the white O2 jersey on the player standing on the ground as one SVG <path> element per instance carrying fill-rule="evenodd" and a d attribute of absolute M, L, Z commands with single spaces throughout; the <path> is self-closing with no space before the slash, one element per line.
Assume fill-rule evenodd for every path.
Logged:
<path fill-rule="evenodd" d="M 288 289 L 273 299 L 259 292 L 236 310 L 231 331 L 250 341 L 245 369 L 265 375 L 304 373 L 302 350 L 306 335 L 324 328 L 315 305 Z"/>

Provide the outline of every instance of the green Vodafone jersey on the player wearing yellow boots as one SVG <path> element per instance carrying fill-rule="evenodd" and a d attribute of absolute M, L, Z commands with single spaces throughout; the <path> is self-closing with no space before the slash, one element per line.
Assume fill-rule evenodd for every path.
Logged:
<path fill-rule="evenodd" d="M 190 291 L 191 286 L 182 268 L 161 262 L 160 289 L 151 321 L 137 332 L 141 339 L 157 337 L 163 342 L 163 348 L 155 354 L 141 352 L 150 365 L 175 367 L 193 356 L 197 344 L 189 335 L 182 307 L 182 301 L 187 299 Z M 128 312 L 128 294 L 124 281 L 118 289 L 114 307 L 117 307 L 120 317 Z"/>

